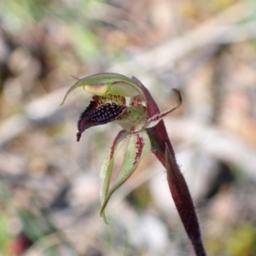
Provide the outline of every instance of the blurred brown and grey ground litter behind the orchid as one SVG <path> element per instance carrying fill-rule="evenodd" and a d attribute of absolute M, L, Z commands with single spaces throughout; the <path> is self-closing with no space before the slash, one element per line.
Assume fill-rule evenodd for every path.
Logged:
<path fill-rule="evenodd" d="M 90 102 L 74 77 L 136 76 L 166 117 L 207 252 L 256 255 L 256 1 L 2 0 L 0 255 L 194 255 L 152 154 L 99 216 L 120 130 L 76 142 Z M 122 156 L 116 159 L 120 165 Z"/>

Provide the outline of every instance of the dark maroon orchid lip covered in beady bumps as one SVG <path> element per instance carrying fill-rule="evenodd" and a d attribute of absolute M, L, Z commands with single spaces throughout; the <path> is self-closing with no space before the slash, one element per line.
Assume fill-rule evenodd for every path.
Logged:
<path fill-rule="evenodd" d="M 79 142 L 83 131 L 91 126 L 104 125 L 117 119 L 125 108 L 125 106 L 119 106 L 114 102 L 106 103 L 98 107 L 95 101 L 91 101 L 90 105 L 85 108 L 84 112 L 81 113 L 79 117 L 77 141 Z"/>

